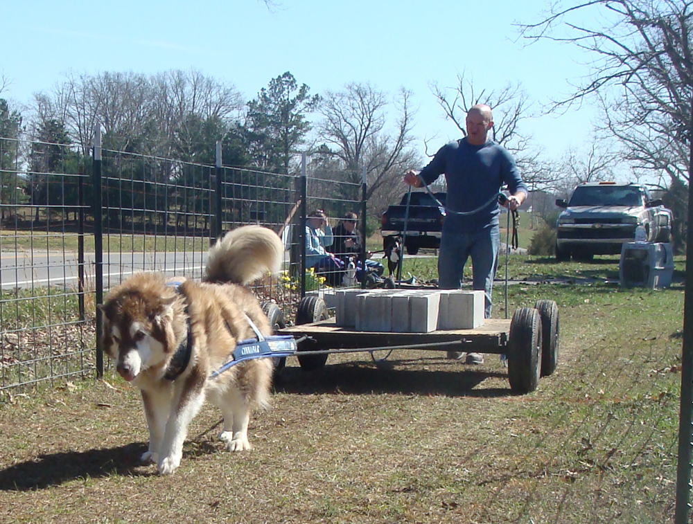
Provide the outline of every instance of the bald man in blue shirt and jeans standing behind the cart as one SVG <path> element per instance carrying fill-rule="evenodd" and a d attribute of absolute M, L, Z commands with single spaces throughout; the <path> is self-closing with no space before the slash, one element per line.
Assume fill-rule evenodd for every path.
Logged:
<path fill-rule="evenodd" d="M 409 171 L 404 176 L 405 183 L 420 188 L 445 174 L 447 216 L 438 255 L 439 286 L 459 288 L 464 264 L 471 256 L 473 289 L 484 290 L 486 318 L 491 318 L 493 277 L 500 246 L 496 195 L 507 184 L 511 193 L 507 206 L 516 210 L 529 193 L 511 154 L 489 140 L 491 127 L 491 107 L 471 107 L 466 116 L 467 136 L 441 147 L 421 172 Z M 448 356 L 458 358 L 459 354 L 449 352 Z M 467 354 L 467 363 L 483 361 L 478 353 Z"/>

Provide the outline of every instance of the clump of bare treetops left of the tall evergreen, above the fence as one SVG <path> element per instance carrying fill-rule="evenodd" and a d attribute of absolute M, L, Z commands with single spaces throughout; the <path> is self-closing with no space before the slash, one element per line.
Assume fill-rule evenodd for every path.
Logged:
<path fill-rule="evenodd" d="M 242 107 L 243 100 L 233 86 L 198 71 L 154 76 L 69 72 L 52 93 L 35 95 L 35 127 L 51 119 L 63 122 L 87 154 L 98 123 L 105 129 L 109 147 L 170 156 L 191 150 L 197 136 L 195 129 L 188 129 L 191 123 L 230 123 Z"/>

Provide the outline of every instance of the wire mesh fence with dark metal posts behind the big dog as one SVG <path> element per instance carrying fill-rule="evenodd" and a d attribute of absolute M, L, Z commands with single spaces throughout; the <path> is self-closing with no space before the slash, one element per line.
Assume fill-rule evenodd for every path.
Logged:
<path fill-rule="evenodd" d="M 306 213 L 363 213 L 360 184 L 0 138 L 0 401 L 46 381 L 103 372 L 96 304 L 138 271 L 200 278 L 225 231 L 261 224 L 285 244 L 283 272 L 258 282 L 290 323 L 307 291 Z M 306 278 L 308 275 L 309 278 Z"/>

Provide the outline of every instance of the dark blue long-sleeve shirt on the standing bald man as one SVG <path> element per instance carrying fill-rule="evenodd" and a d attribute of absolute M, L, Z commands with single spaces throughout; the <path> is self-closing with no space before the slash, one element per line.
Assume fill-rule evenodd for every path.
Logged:
<path fill-rule="evenodd" d="M 444 233 L 473 233 L 498 224 L 500 212 L 495 200 L 473 215 L 455 211 L 464 213 L 479 208 L 505 184 L 512 195 L 518 191 L 529 195 L 513 156 L 492 141 L 471 145 L 462 138 L 444 145 L 419 173 L 428 185 L 441 174 L 445 174 L 448 184 Z"/>

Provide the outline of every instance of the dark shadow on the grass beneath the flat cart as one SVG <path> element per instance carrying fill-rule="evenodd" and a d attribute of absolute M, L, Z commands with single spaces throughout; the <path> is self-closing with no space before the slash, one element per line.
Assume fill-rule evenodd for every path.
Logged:
<path fill-rule="evenodd" d="M 486 358 L 493 358 L 489 355 Z M 322 370 L 306 372 L 298 367 L 285 368 L 275 379 L 277 392 L 313 394 L 335 393 L 346 395 L 404 394 L 445 395 L 447 397 L 505 397 L 514 395 L 507 388 L 476 390 L 486 379 L 507 380 L 507 374 L 463 367 L 455 370 L 391 369 L 407 361 L 388 360 L 378 367 L 363 363 L 326 365 Z"/>

